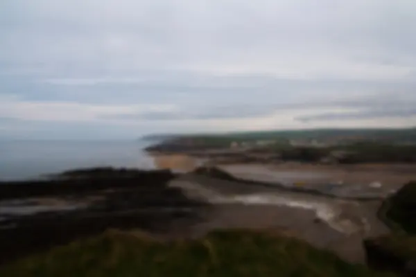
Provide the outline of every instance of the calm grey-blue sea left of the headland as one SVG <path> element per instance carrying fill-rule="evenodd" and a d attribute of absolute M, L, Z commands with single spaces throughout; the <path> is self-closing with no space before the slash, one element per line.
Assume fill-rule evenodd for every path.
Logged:
<path fill-rule="evenodd" d="M 73 168 L 155 168 L 143 149 L 152 141 L 0 142 L 0 180 L 32 179 Z"/>

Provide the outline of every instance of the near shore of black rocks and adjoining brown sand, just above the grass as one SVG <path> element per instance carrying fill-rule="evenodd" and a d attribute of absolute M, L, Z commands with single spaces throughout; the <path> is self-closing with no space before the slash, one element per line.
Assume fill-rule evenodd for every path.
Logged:
<path fill-rule="evenodd" d="M 8 191 L 3 200 L 26 199 L 33 206 L 61 208 L 3 213 L 0 246 L 8 255 L 0 263 L 108 228 L 142 229 L 166 239 L 199 238 L 215 229 L 284 229 L 349 262 L 364 263 L 362 240 L 388 232 L 374 217 L 381 200 L 331 199 L 195 173 L 173 175 L 168 170 L 74 170 L 67 176 L 40 184 L 28 181 L 26 188 L 33 186 L 31 190 L 24 184 L 3 186 Z M 62 209 L 74 203 L 84 206 Z M 15 241 L 21 242 L 19 247 Z"/>

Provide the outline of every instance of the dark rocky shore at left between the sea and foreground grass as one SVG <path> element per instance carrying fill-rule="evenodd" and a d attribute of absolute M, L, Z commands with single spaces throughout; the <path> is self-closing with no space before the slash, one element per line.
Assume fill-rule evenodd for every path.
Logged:
<path fill-rule="evenodd" d="M 73 170 L 38 181 L 0 182 L 0 264 L 106 229 L 171 232 L 206 204 L 168 181 L 169 170 Z"/>

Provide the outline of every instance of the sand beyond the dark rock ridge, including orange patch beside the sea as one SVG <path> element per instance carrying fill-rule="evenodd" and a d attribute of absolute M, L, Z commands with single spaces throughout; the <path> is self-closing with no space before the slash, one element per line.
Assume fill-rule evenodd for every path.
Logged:
<path fill-rule="evenodd" d="M 155 166 L 160 169 L 189 172 L 204 161 L 184 154 L 157 154 Z M 312 163 L 234 163 L 215 164 L 237 177 L 275 182 L 308 182 L 370 184 L 380 182 L 386 190 L 397 190 L 416 180 L 416 164 L 319 165 Z"/>

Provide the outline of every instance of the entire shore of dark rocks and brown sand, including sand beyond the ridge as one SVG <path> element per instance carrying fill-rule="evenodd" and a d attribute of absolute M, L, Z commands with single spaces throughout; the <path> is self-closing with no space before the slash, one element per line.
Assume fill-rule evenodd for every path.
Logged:
<path fill-rule="evenodd" d="M 405 183 L 399 184 L 401 179 L 398 178 L 408 178 L 413 172 L 413 165 L 339 166 L 293 162 L 259 163 L 258 160 L 221 163 L 209 159 L 211 154 L 218 157 L 218 152 L 210 152 L 208 155 L 156 153 L 148 152 L 155 167 L 160 170 L 150 170 L 149 174 L 165 176 L 156 182 L 153 177 L 143 179 L 146 175 L 144 170 L 121 169 L 112 177 L 98 170 L 94 177 L 87 177 L 84 184 L 79 183 L 84 179 L 79 175 L 83 170 L 78 170 L 78 173 L 76 170 L 69 175 L 71 184 L 58 185 L 60 191 L 53 189 L 57 187 L 53 184 L 46 186 L 49 189 L 37 190 L 33 195 L 28 195 L 28 192 L 34 192 L 34 189 L 26 190 L 22 186 L 17 188 L 16 184 L 10 185 L 9 188 L 14 188 L 8 190 L 9 198 L 28 199 L 38 206 L 49 207 L 73 204 L 73 199 L 78 199 L 76 204 L 86 206 L 81 205 L 67 211 L 57 208 L 55 211 L 15 218 L 4 217 L 0 213 L 0 227 L 3 227 L 0 228 L 0 245 L 3 249 L 9 249 L 10 253 L 15 253 L 1 257 L 5 259 L 3 262 L 116 228 L 141 229 L 164 240 L 201 238 L 216 229 L 284 230 L 295 238 L 306 240 L 314 247 L 335 252 L 343 260 L 365 263 L 367 253 L 363 241 L 390 233 L 388 227 L 377 217 L 379 206 L 390 195 L 390 188 L 397 190 Z M 203 167 L 202 171 L 196 170 L 204 165 L 207 168 L 223 170 L 231 179 L 205 174 L 207 172 L 204 172 Z M 179 173 L 172 173 L 171 170 Z M 78 175 L 74 175 L 74 172 Z M 370 179 L 365 179 L 367 177 L 371 177 L 371 181 L 374 181 L 374 177 L 388 180 L 381 172 L 397 176 L 388 186 L 383 181 L 383 188 L 388 190 L 376 197 L 351 197 L 320 192 L 319 185 L 322 182 L 329 184 L 340 179 L 340 176 L 347 179 L 345 172 L 355 175 L 355 179 L 338 184 L 338 188 L 354 188 L 354 182 L 359 180 L 363 181 L 360 186 L 368 186 Z M 291 175 L 288 179 L 293 184 L 302 181 L 302 186 L 288 187 L 282 181 L 282 176 L 286 175 Z M 108 185 L 100 181 L 97 183 L 97 180 L 107 180 Z M 127 180 L 130 180 L 129 184 L 120 186 Z M 48 181 L 51 180 L 44 180 Z M 31 182 L 28 181 L 27 184 Z M 331 186 L 336 188 L 335 184 Z M 6 191 L 6 186 L 3 188 Z M 23 191 L 26 192 L 21 193 Z M 43 193 L 39 195 L 39 191 Z M 10 228 L 13 224 L 14 227 Z M 62 228 L 67 230 L 67 235 L 62 236 Z M 32 233 L 42 233 L 34 249 L 28 247 L 35 240 L 30 235 Z M 21 241 L 21 249 L 13 249 L 14 246 L 10 244 L 16 240 Z"/>

